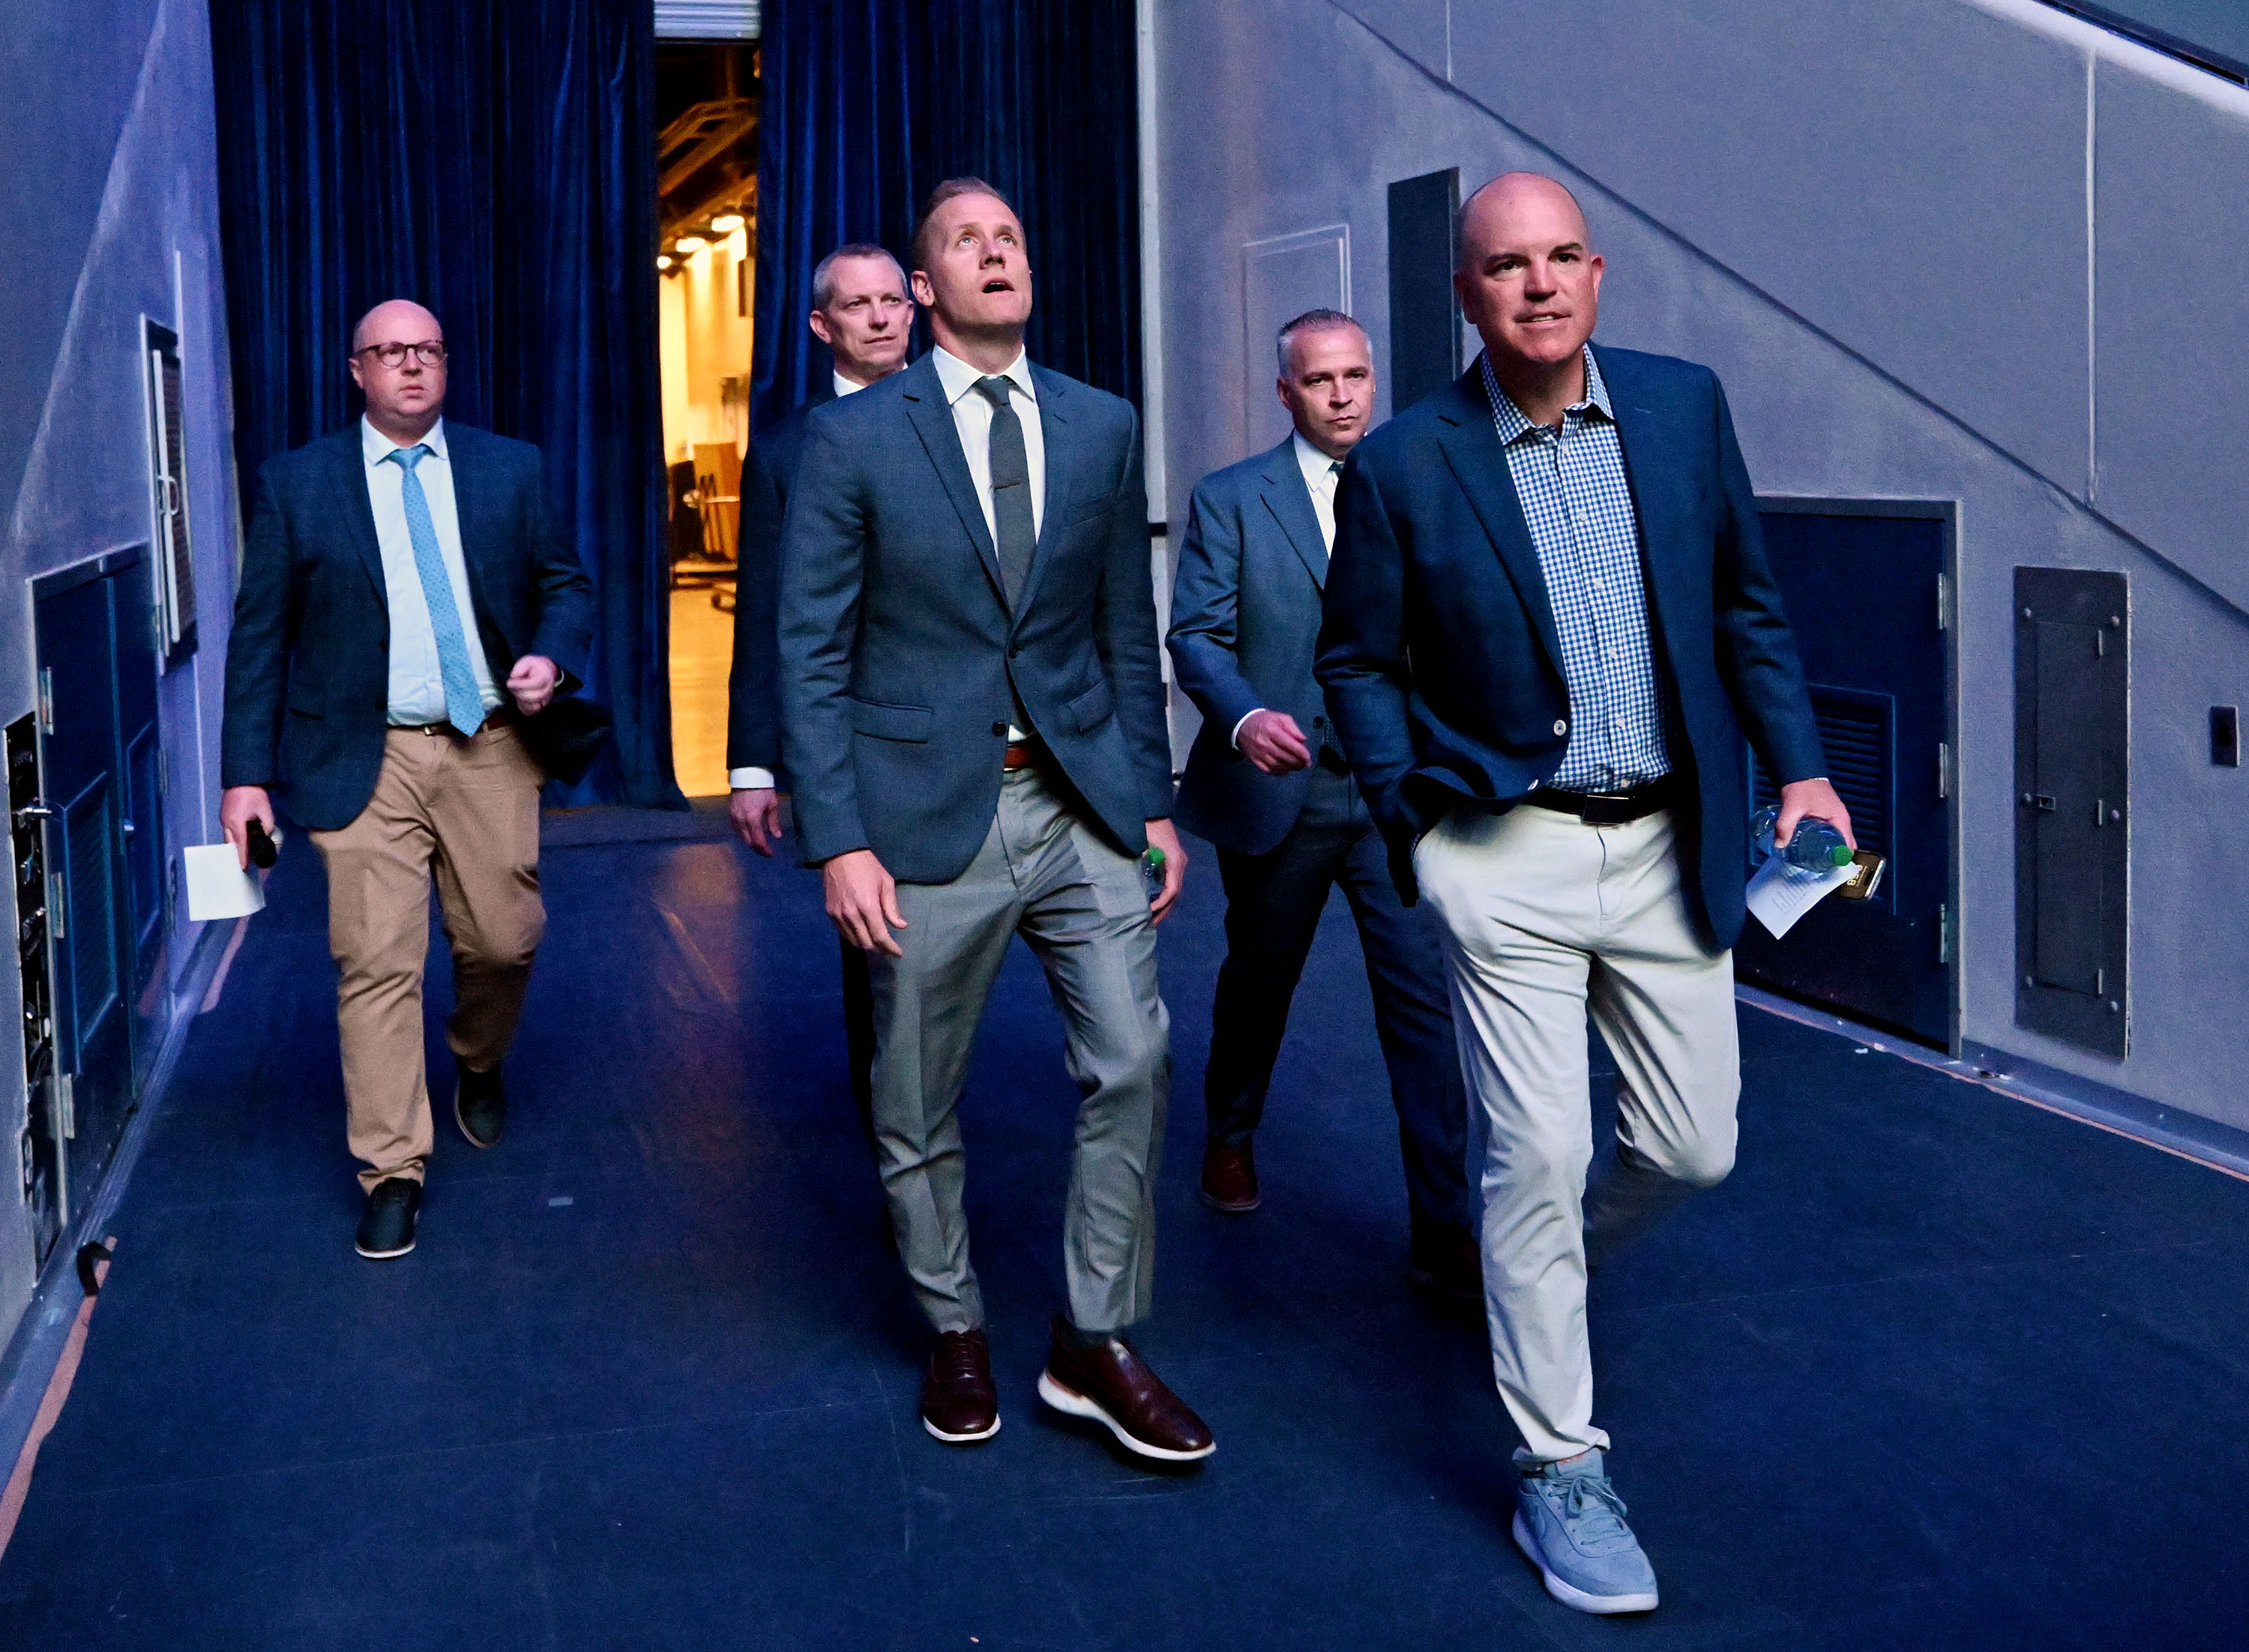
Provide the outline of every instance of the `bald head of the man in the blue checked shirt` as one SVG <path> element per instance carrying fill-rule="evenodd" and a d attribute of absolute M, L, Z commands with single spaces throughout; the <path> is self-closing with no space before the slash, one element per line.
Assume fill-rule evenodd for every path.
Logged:
<path fill-rule="evenodd" d="M 1601 254 L 1577 196 L 1538 173 L 1500 173 L 1460 209 L 1460 312 L 1525 418 L 1547 425 L 1583 396 Z"/>

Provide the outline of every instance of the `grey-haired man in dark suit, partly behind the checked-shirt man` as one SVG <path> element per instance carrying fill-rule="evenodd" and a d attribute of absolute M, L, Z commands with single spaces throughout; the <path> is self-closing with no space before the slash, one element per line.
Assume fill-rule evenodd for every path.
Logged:
<path fill-rule="evenodd" d="M 1253 1133 L 1320 910 L 1340 886 L 1358 919 L 1406 1151 L 1408 1277 L 1482 1301 L 1442 942 L 1426 913 L 1399 904 L 1383 836 L 1311 679 L 1336 479 L 1374 420 L 1374 357 L 1340 310 L 1295 317 L 1277 344 L 1275 391 L 1295 429 L 1280 447 L 1203 476 L 1172 584 L 1172 665 L 1203 712 L 1178 818 L 1219 845 L 1226 881 L 1226 964 L 1203 1070 L 1203 1202 L 1259 1205 Z"/>

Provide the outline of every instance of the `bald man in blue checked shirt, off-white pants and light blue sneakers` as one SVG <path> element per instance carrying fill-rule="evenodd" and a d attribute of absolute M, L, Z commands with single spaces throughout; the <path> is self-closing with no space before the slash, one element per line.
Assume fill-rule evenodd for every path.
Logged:
<path fill-rule="evenodd" d="M 1318 677 L 1446 928 L 1516 1544 L 1565 1605 L 1644 1612 L 1592 1425 L 1588 1252 L 1734 1162 L 1743 735 L 1781 841 L 1849 816 L 1718 380 L 1590 344 L 1604 265 L 1552 178 L 1484 184 L 1457 247 L 1484 353 L 1352 456 Z M 1588 1007 L 1619 1070 L 1590 1191 Z"/>

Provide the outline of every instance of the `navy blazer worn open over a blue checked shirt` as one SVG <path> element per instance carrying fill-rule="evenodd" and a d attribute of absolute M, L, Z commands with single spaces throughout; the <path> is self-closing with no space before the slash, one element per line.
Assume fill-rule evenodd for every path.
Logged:
<path fill-rule="evenodd" d="M 1595 348 L 1640 517 L 1649 632 L 1671 679 L 1673 809 L 1705 940 L 1741 933 L 1741 735 L 1783 784 L 1826 773 L 1750 472 L 1707 366 Z M 1320 686 L 1390 868 L 1457 805 L 1509 807 L 1561 769 L 1561 641 L 1482 366 L 1367 436 L 1343 470 Z"/>

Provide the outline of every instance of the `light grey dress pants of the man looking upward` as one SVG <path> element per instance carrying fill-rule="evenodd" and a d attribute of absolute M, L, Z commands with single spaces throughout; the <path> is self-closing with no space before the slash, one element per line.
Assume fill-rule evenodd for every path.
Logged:
<path fill-rule="evenodd" d="M 1080 1331 L 1147 1315 L 1172 1020 L 1138 863 L 1080 820 L 1037 769 L 1014 769 L 992 832 L 951 883 L 900 883 L 904 957 L 868 955 L 875 1149 L 897 1254 L 938 1331 L 983 1324 L 960 1209 L 958 1101 L 985 998 L 1021 935 L 1046 969 L 1077 1081 L 1077 1155 L 1062 1270 Z"/>

